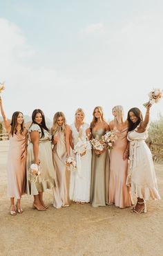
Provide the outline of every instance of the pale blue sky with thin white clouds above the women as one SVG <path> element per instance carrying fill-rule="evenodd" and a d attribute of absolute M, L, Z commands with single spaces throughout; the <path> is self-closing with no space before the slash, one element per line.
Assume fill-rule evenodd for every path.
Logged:
<path fill-rule="evenodd" d="M 96 105 L 106 119 L 122 104 L 142 107 L 163 87 L 162 1 L 3 1 L 0 81 L 8 116 L 40 107 L 52 118 L 77 107 L 86 120 Z M 14 97 L 13 97 L 14 95 Z M 152 118 L 163 114 L 163 100 Z"/>

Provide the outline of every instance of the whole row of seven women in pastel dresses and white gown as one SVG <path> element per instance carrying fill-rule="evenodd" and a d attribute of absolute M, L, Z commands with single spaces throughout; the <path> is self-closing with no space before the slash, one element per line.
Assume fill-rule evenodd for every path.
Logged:
<path fill-rule="evenodd" d="M 77 109 L 75 122 L 66 124 L 64 113 L 57 112 L 52 128 L 48 129 L 43 111 L 35 109 L 32 124 L 24 127 L 23 113 L 13 113 L 11 122 L 3 111 L 1 115 L 10 139 L 8 152 L 8 196 L 10 214 L 23 212 L 21 196 L 34 196 L 33 208 L 44 211 L 43 193 L 52 189 L 55 208 L 90 202 L 93 207 L 114 204 L 119 208 L 131 207 L 131 194 L 137 196 L 132 212 L 146 212 L 146 199 L 160 199 L 151 152 L 145 143 L 151 104 L 143 119 L 140 109 L 128 111 L 124 120 L 122 106 L 113 108 L 113 120 L 104 120 L 102 107 L 95 107 L 90 125 L 84 122 L 84 111 Z M 77 155 L 77 170 L 70 172 L 66 159 L 72 156 L 79 140 L 99 140 L 106 131 L 115 131 L 117 140 L 113 149 L 88 149 Z M 75 154 L 74 154 L 75 156 Z M 32 163 L 41 167 L 41 179 L 32 182 L 29 170 Z M 15 199 L 17 203 L 15 205 Z"/>

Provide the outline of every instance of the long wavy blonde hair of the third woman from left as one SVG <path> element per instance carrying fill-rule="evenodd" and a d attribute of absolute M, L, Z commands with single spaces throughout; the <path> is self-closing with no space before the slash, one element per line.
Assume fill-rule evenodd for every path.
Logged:
<path fill-rule="evenodd" d="M 64 122 L 63 125 L 61 125 L 61 127 L 57 124 L 58 118 L 63 118 Z M 52 123 L 52 136 L 54 136 L 56 134 L 57 131 L 62 131 L 66 132 L 66 118 L 64 116 L 63 112 L 57 112 L 55 113 L 55 116 L 53 118 L 53 123 Z"/>

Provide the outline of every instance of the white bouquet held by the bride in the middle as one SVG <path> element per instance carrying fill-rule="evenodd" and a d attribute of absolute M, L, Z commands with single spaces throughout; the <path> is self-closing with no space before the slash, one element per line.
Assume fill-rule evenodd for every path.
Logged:
<path fill-rule="evenodd" d="M 73 152 L 75 154 L 80 154 L 80 156 L 84 156 L 86 154 L 86 151 L 91 148 L 92 147 L 89 140 L 81 140 L 81 138 L 79 138 L 78 143 L 75 145 Z"/>

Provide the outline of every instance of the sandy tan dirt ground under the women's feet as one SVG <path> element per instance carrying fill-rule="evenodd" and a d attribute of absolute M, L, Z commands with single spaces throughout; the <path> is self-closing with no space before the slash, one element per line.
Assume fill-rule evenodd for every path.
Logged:
<path fill-rule="evenodd" d="M 52 192 L 44 194 L 50 205 L 45 212 L 32 210 L 32 196 L 23 196 L 23 214 L 9 214 L 6 196 L 8 141 L 0 141 L 0 255 L 163 255 L 163 202 L 148 201 L 146 214 L 114 205 L 90 204 L 52 207 Z M 163 165 L 155 164 L 160 195 Z"/>

